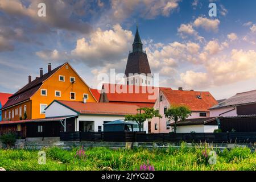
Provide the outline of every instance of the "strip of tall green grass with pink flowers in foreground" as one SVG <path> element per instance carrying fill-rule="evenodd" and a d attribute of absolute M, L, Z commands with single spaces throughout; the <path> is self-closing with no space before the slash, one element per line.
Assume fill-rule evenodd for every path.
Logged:
<path fill-rule="evenodd" d="M 216 164 L 209 164 L 210 147 L 44 148 L 46 164 L 38 164 L 38 150 L 0 149 L 0 167 L 6 170 L 251 170 L 256 171 L 256 152 L 249 148 L 215 151 Z M 148 163 L 148 164 L 147 164 Z M 145 164 L 143 166 L 143 164 Z"/>

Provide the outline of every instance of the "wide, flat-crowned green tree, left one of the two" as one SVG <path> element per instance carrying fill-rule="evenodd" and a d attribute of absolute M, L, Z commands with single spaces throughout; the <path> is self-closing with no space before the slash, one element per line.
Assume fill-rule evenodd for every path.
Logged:
<path fill-rule="evenodd" d="M 155 117 L 162 118 L 162 115 L 159 114 L 159 110 L 155 110 L 154 108 L 143 107 L 137 109 L 138 113 L 135 115 L 126 115 L 125 121 L 135 121 L 139 125 L 139 131 L 141 131 L 141 125 L 147 119 L 152 119 Z"/>

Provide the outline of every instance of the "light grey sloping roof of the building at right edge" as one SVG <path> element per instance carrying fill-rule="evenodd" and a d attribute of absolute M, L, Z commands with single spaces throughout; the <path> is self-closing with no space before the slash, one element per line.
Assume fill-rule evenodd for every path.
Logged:
<path fill-rule="evenodd" d="M 253 103 L 256 103 L 256 90 L 237 93 L 236 96 L 230 97 L 220 102 L 219 104 L 211 107 L 210 109 L 215 109 L 218 107 L 242 105 L 242 104 L 253 104 Z"/>

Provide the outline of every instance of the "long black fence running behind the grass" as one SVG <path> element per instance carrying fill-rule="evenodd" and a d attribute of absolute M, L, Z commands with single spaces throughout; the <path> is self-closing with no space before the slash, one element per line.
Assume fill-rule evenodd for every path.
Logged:
<path fill-rule="evenodd" d="M 254 143 L 256 133 L 61 132 L 63 141 Z"/>

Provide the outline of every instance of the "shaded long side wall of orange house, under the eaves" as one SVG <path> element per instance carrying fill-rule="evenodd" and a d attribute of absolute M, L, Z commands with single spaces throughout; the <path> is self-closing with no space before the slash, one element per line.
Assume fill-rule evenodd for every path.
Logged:
<path fill-rule="evenodd" d="M 3 121 L 17 121 L 20 120 L 19 107 L 22 107 L 22 119 L 24 119 L 24 106 L 27 106 L 27 119 L 31 119 L 31 101 L 23 102 L 22 104 L 10 107 L 8 109 L 2 110 L 2 120 Z M 18 109 L 18 114 L 15 115 L 15 109 Z M 14 118 L 12 118 L 12 112 L 14 110 Z M 9 111 L 11 111 L 11 118 L 9 118 Z M 5 112 L 6 118 L 5 118 Z"/>

